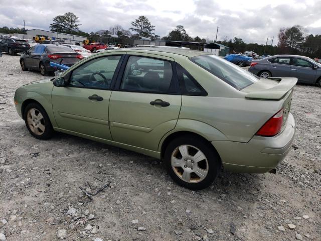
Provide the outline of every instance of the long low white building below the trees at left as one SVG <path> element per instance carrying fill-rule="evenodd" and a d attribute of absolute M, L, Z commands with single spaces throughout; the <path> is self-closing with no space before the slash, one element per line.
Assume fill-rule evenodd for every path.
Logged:
<path fill-rule="evenodd" d="M 52 40 L 63 40 L 65 43 L 80 43 L 86 39 L 86 37 L 82 37 L 79 35 L 72 34 L 63 34 L 53 31 L 41 30 L 41 29 L 31 29 L 27 30 L 28 39 L 33 39 L 33 37 L 45 37 L 50 38 Z"/>

